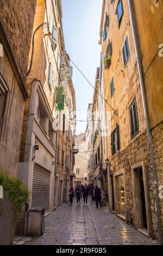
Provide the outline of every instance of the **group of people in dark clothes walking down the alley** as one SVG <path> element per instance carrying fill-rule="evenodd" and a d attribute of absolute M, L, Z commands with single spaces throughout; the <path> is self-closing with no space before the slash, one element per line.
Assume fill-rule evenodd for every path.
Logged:
<path fill-rule="evenodd" d="M 80 199 L 83 197 L 84 204 L 87 206 L 87 197 L 91 196 L 92 202 L 95 200 L 96 208 L 98 208 L 98 204 L 102 207 L 101 204 L 101 189 L 96 185 L 95 187 L 93 184 L 86 185 L 86 183 L 82 185 L 77 184 L 75 189 L 73 188 L 73 184 L 71 184 L 69 189 L 69 197 L 70 197 L 70 204 L 73 203 L 73 197 L 76 196 L 77 198 L 77 205 L 80 204 Z"/>

